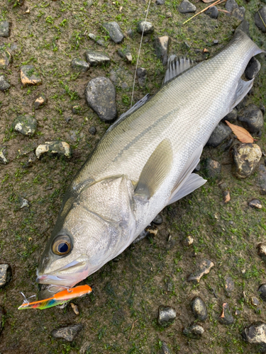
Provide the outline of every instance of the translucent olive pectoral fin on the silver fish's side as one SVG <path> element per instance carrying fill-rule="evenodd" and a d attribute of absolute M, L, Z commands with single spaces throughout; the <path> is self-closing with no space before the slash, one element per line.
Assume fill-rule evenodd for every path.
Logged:
<path fill-rule="evenodd" d="M 172 167 L 172 147 L 165 139 L 157 146 L 140 173 L 135 195 L 150 199 L 167 177 Z"/>

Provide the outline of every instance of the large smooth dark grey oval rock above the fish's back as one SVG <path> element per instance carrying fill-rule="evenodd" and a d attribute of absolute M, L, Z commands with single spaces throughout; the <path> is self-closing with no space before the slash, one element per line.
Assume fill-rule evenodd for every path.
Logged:
<path fill-rule="evenodd" d="M 101 121 L 111 123 L 116 120 L 116 89 L 109 79 L 99 76 L 89 81 L 85 98 Z"/>

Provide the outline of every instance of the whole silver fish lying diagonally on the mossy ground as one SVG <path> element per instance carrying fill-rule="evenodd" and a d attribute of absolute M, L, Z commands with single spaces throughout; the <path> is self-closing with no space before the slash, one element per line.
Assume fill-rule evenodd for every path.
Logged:
<path fill-rule="evenodd" d="M 167 205 L 206 182 L 193 173 L 218 122 L 253 86 L 241 76 L 263 52 L 241 30 L 213 58 L 171 56 L 165 81 L 109 127 L 62 200 L 37 269 L 73 287 L 123 252 Z"/>

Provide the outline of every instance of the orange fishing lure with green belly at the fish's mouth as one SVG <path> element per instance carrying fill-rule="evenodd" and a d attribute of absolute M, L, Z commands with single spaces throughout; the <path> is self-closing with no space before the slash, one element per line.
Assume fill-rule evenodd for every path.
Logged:
<path fill-rule="evenodd" d="M 18 309 L 48 309 L 49 307 L 57 305 L 65 305 L 75 297 L 82 297 L 89 294 L 90 292 L 92 292 L 92 288 L 89 287 L 89 285 L 79 285 L 77 287 L 71 287 L 69 289 L 57 292 L 55 295 L 53 295 L 53 297 L 49 297 L 48 299 L 43 299 L 35 302 L 28 302 L 28 299 L 26 299 L 22 293 L 25 299 L 23 304 L 18 307 Z"/>

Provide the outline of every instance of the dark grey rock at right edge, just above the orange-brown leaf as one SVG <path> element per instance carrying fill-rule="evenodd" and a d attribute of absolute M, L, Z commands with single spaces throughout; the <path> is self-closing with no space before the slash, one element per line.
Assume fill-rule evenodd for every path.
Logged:
<path fill-rule="evenodd" d="M 238 113 L 238 120 L 250 133 L 259 132 L 262 130 L 264 125 L 262 111 L 253 104 L 250 104 L 247 108 L 240 110 Z"/>

